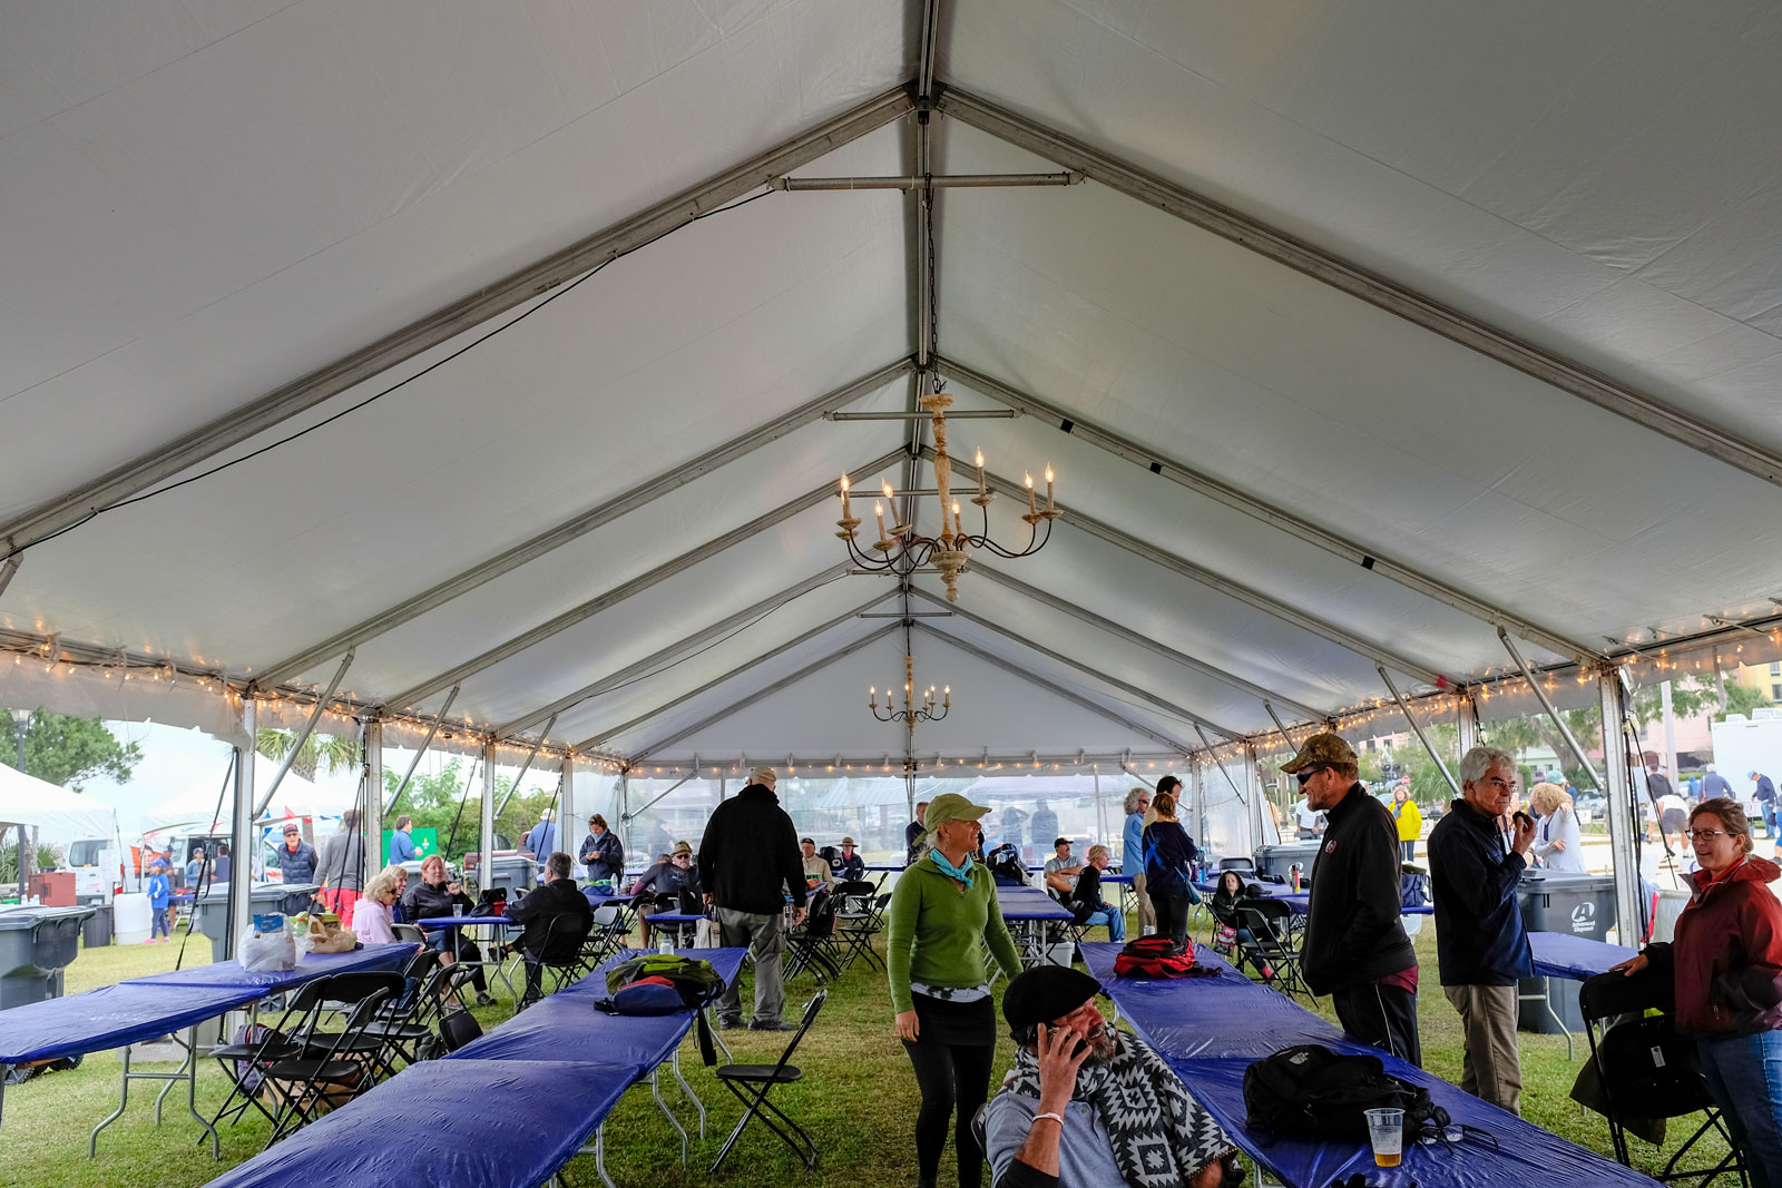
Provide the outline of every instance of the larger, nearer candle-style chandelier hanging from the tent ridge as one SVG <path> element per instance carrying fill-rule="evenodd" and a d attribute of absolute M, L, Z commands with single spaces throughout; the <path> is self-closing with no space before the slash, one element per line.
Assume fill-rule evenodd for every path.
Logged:
<path fill-rule="evenodd" d="M 936 381 L 939 385 L 939 381 Z M 964 520 L 959 515 L 959 500 L 952 497 L 953 483 L 953 460 L 946 452 L 946 410 L 952 408 L 953 397 L 946 392 L 934 392 L 921 397 L 920 404 L 934 419 L 934 486 L 936 493 L 941 497 L 941 531 L 936 536 L 921 536 L 909 524 L 895 524 L 886 529 L 886 511 L 882 502 L 873 502 L 873 517 L 879 522 L 879 540 L 873 541 L 870 549 L 862 549 L 855 529 L 861 527 L 861 520 L 854 515 L 852 504 L 848 502 L 848 476 L 841 476 L 841 518 L 836 520 L 836 533 L 848 547 L 848 557 L 864 570 L 891 572 L 902 579 L 909 579 L 911 574 L 925 566 L 934 566 L 941 574 L 941 581 L 946 584 L 946 600 L 959 602 L 959 575 L 966 572 L 971 561 L 969 549 L 987 549 L 998 557 L 1025 557 L 1039 552 L 1051 540 L 1051 522 L 1059 518 L 1059 509 L 1051 499 L 1051 467 L 1046 467 L 1046 506 L 1039 508 L 1037 497 L 1034 493 L 1034 476 L 1026 476 L 1026 513 L 1021 515 L 1021 522 L 1028 527 L 1028 540 L 1023 549 L 1010 549 L 991 540 L 991 515 L 989 506 L 996 499 L 996 492 L 984 484 L 984 451 L 978 451 L 978 493 L 971 495 L 971 502 L 978 506 L 984 517 L 984 531 L 971 534 L 966 533 Z M 893 492 L 891 484 L 884 484 L 886 502 L 891 502 Z M 893 520 L 896 518 L 896 506 L 891 509 Z M 1046 531 L 1041 533 L 1039 525 L 1044 524 Z M 889 691 L 887 691 L 889 695 Z"/>

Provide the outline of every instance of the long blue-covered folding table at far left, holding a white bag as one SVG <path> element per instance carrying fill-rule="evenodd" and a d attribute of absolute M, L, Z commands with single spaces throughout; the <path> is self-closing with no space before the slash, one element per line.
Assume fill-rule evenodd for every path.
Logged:
<path fill-rule="evenodd" d="M 239 962 L 194 965 L 166 974 L 130 978 L 86 994 L 53 997 L 0 1012 L 0 1070 L 16 1063 L 86 1056 L 123 1049 L 118 1108 L 87 1136 L 87 1156 L 98 1154 L 100 1131 L 123 1117 L 132 1081 L 164 1081 L 155 1097 L 155 1124 L 175 1083 L 185 1081 L 185 1110 L 210 1135 L 210 1152 L 221 1156 L 216 1129 L 198 1113 L 198 1024 L 305 981 L 333 974 L 401 969 L 413 944 L 371 944 L 351 953 L 308 953 L 296 969 L 248 971 Z M 134 1072 L 130 1044 L 171 1035 L 184 1056 L 173 1072 Z M 5 1078 L 0 1076 L 0 1108 Z"/>

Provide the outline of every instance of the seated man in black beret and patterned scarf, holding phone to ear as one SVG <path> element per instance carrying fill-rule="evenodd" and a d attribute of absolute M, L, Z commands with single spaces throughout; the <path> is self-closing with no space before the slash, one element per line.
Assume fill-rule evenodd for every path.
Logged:
<path fill-rule="evenodd" d="M 984 1115 L 996 1188 L 1237 1184 L 1231 1140 L 1162 1056 L 1101 1017 L 1099 992 L 1064 965 L 1009 983 L 1003 1017 L 1021 1049 Z"/>

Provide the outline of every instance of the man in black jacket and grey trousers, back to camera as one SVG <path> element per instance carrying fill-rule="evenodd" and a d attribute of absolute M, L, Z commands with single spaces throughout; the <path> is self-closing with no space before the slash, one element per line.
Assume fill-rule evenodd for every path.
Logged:
<path fill-rule="evenodd" d="M 720 803 L 706 821 L 699 842 L 699 878 L 706 903 L 718 910 L 718 932 L 725 946 L 748 946 L 756 958 L 754 1031 L 791 1031 L 781 1019 L 786 987 L 781 960 L 786 933 L 781 912 L 791 891 L 791 923 L 804 923 L 804 857 L 798 830 L 773 794 L 773 768 L 748 773 L 748 787 Z M 741 985 L 732 981 L 718 999 L 718 1026 L 743 1022 Z"/>

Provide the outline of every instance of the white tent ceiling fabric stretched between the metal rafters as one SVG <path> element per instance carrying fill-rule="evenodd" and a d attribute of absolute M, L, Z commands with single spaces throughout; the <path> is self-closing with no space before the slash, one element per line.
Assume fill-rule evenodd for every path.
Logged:
<path fill-rule="evenodd" d="M 1511 4 L 959 0 L 939 78 L 1782 451 L 1782 20 Z M 0 12 L 0 524 L 880 100 L 916 73 L 923 7 Z M 916 121 L 884 119 L 795 175 L 911 173 Z M 1059 167 L 930 128 L 937 173 Z M 424 714 L 460 686 L 479 730 L 556 712 L 552 743 L 652 762 L 900 757 L 907 732 L 855 702 L 902 679 L 902 636 L 857 613 L 903 600 L 846 574 L 827 488 L 848 468 L 870 534 L 880 477 L 934 472 L 905 479 L 907 422 L 811 403 L 879 374 L 845 411 L 896 413 L 925 383 L 884 370 L 923 331 L 914 199 L 743 196 L 29 547 L 0 627 L 298 688 L 344 639 L 358 705 Z M 916 753 L 1263 734 L 1258 691 L 1288 720 L 1370 705 L 1381 659 L 1424 693 L 1479 680 L 1508 659 L 1479 606 L 1545 634 L 1538 664 L 1775 614 L 1782 492 L 1746 470 L 1110 185 L 934 208 L 957 410 L 1001 385 L 1157 458 L 1041 415 L 953 422 L 996 476 L 1053 465 L 1066 515 L 989 563 L 1010 581 L 968 572 L 957 614 L 918 620 L 918 680 L 957 704 Z M 991 508 L 1000 540 L 1018 511 Z M 909 607 L 939 597 L 920 575 Z M 155 712 L 57 680 L 0 693 Z"/>

